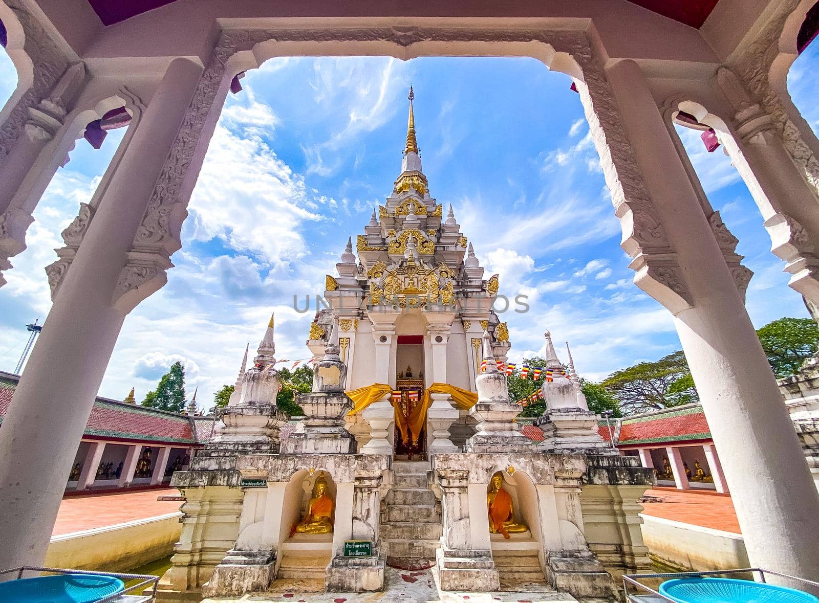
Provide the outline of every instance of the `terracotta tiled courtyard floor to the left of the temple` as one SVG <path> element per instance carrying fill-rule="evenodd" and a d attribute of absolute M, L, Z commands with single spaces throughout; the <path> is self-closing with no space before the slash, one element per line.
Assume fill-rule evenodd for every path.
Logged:
<path fill-rule="evenodd" d="M 163 488 L 63 498 L 52 535 L 173 513 L 182 502 L 157 501 L 156 497 L 178 495 L 174 488 Z"/>

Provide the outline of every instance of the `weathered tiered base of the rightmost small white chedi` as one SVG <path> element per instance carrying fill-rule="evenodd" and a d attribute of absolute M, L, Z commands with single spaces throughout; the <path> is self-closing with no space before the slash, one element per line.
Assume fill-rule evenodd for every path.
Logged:
<path fill-rule="evenodd" d="M 535 419 L 543 430 L 541 452 L 617 454 L 597 433 L 599 415 L 582 408 L 556 408 Z"/>

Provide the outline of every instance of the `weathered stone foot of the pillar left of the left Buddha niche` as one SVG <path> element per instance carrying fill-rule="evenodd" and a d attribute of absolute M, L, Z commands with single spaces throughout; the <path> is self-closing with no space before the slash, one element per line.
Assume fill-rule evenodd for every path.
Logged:
<path fill-rule="evenodd" d="M 228 551 L 202 586 L 202 595 L 242 596 L 246 592 L 265 591 L 273 580 L 274 565 L 275 558 L 269 551 Z"/>

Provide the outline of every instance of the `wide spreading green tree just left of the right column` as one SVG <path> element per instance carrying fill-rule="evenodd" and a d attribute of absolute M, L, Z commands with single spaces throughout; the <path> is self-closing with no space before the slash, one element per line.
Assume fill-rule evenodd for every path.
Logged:
<path fill-rule="evenodd" d="M 655 362 L 639 362 L 613 372 L 600 385 L 617 398 L 624 414 L 632 415 L 699 402 L 693 380 L 691 387 L 684 387 L 686 376 L 690 376 L 688 362 L 680 350 Z"/>

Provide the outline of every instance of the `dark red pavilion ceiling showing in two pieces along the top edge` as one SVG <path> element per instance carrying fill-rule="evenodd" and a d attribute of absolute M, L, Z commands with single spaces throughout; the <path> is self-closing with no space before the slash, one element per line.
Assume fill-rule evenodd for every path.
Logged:
<path fill-rule="evenodd" d="M 114 25 L 174 0 L 88 0 L 103 25 Z M 699 29 L 719 0 L 629 0 L 649 11 Z"/>

